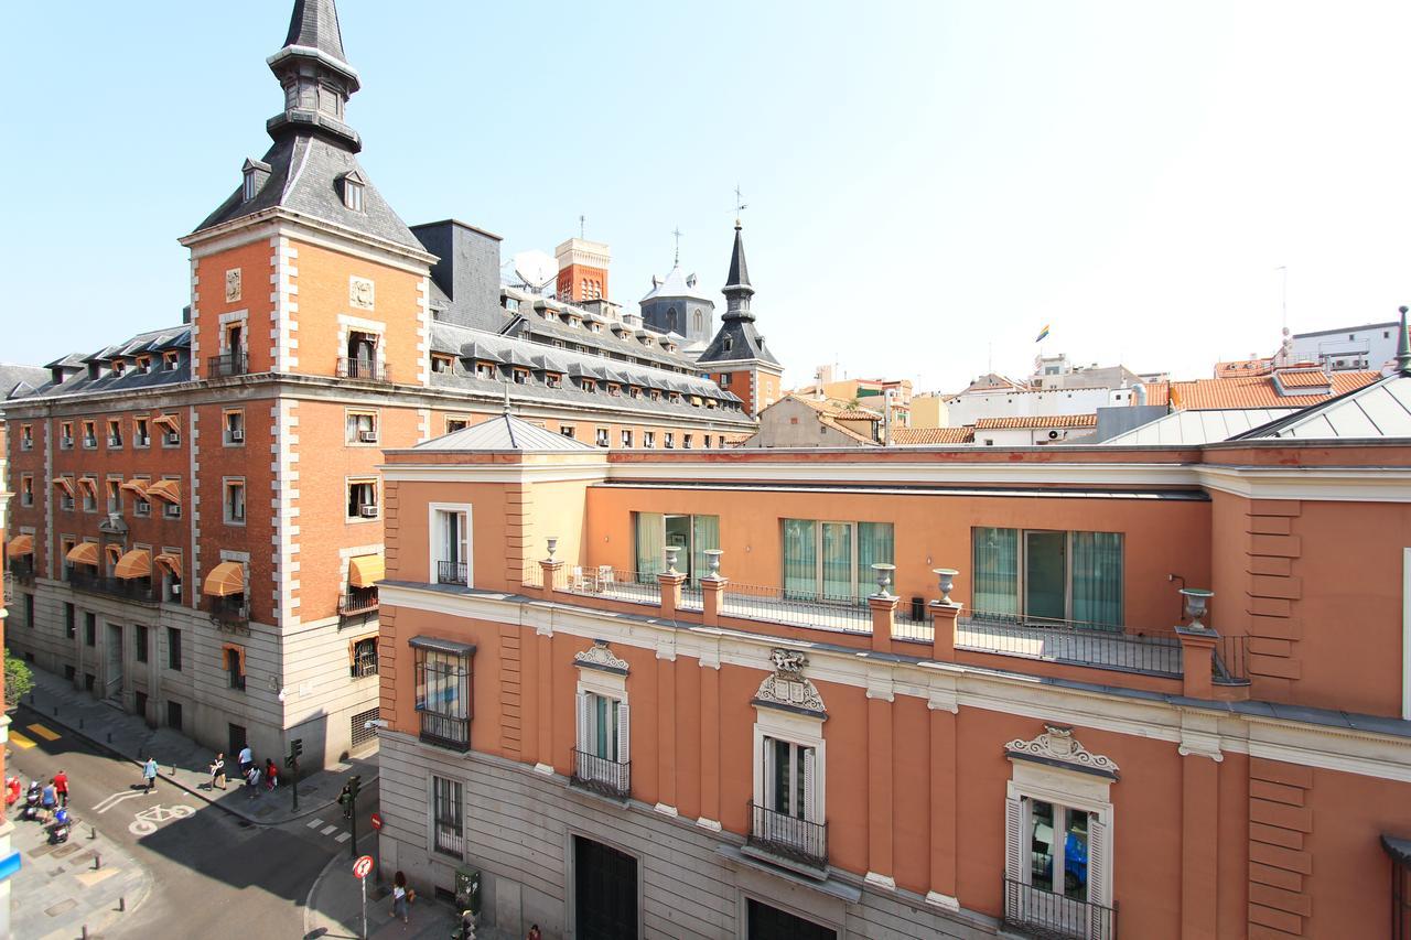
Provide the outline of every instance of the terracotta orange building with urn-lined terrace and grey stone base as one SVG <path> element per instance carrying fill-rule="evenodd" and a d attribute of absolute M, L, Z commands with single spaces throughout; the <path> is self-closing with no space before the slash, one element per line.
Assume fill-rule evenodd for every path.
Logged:
<path fill-rule="evenodd" d="M 1405 936 L 1408 388 L 1201 447 L 388 452 L 382 864 L 546 937 Z"/>

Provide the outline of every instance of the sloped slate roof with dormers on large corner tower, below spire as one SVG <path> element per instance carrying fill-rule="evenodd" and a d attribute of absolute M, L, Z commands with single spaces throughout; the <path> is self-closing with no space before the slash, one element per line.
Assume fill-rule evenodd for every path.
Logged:
<path fill-rule="evenodd" d="M 357 171 L 367 179 L 367 171 L 349 147 L 312 134 L 288 134 L 275 141 L 264 162 L 270 164 L 270 178 L 260 192 L 244 202 L 241 186 L 236 186 L 220 207 L 196 226 L 196 231 L 281 207 L 426 251 L 371 182 L 363 188 L 363 212 L 343 205 L 340 178 Z"/>

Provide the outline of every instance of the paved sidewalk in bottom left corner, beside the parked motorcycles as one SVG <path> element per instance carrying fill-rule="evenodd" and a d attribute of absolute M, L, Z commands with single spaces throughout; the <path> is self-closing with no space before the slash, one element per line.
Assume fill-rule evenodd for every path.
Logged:
<path fill-rule="evenodd" d="M 69 841 L 51 845 L 41 823 L 14 820 L 10 844 L 24 855 L 10 882 L 14 940 L 93 937 L 110 927 L 110 936 L 117 936 L 117 924 L 151 892 L 152 876 L 135 858 L 103 838 L 102 830 L 90 841 L 87 821 L 80 823 Z M 95 868 L 97 862 L 100 868 Z"/>

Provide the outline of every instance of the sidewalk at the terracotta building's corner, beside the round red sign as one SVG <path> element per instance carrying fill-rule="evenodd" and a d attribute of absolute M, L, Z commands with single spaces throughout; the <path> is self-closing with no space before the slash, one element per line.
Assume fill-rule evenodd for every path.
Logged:
<path fill-rule="evenodd" d="M 430 891 L 422 893 L 419 885 L 416 903 L 412 905 L 411 923 L 392 920 L 391 872 L 382 884 L 377 884 L 374 871 L 367 879 L 367 936 L 368 940 L 449 940 L 460 923 L 450 905 L 432 900 Z M 339 855 L 327 864 L 303 908 L 303 936 L 306 940 L 356 940 L 361 937 L 363 895 L 357 878 L 353 876 L 353 862 Z M 495 927 L 477 927 L 476 940 L 512 940 L 509 934 Z"/>

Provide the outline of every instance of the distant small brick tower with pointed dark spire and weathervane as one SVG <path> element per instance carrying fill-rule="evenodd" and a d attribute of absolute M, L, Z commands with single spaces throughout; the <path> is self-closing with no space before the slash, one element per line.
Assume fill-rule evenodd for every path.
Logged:
<path fill-rule="evenodd" d="M 735 250 L 729 257 L 725 277 L 725 315 L 720 332 L 706 347 L 696 364 L 721 388 L 745 402 L 745 411 L 758 415 L 779 401 L 783 366 L 765 349 L 765 337 L 755 329 L 755 313 L 749 298 L 755 288 L 749 284 L 745 264 L 745 241 L 739 222 L 735 222 Z"/>

